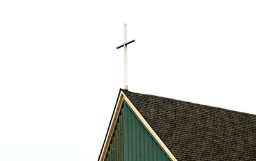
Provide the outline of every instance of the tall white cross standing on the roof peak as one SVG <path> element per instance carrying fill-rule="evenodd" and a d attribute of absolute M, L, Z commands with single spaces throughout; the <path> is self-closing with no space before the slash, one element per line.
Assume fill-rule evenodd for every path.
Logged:
<path fill-rule="evenodd" d="M 121 47 L 124 47 L 124 89 L 128 90 L 128 84 L 127 84 L 127 45 L 129 43 L 135 42 L 135 40 L 131 40 L 127 42 L 127 29 L 126 24 L 124 24 L 124 43 L 122 45 L 119 45 L 116 47 L 116 49 L 119 49 Z"/>

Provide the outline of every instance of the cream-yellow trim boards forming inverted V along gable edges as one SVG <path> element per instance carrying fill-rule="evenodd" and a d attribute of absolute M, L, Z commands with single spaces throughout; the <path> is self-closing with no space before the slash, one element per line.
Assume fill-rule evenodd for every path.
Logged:
<path fill-rule="evenodd" d="M 144 127 L 147 128 L 148 132 L 150 132 L 150 134 L 154 137 L 154 139 L 156 139 L 156 141 L 158 142 L 158 144 L 161 146 L 161 148 L 163 148 L 163 150 L 165 151 L 165 153 L 173 160 L 173 161 L 177 161 L 177 159 L 174 157 L 174 155 L 172 154 L 172 152 L 167 148 L 167 146 L 164 144 L 164 142 L 160 139 L 160 137 L 156 134 L 156 132 L 154 132 L 154 130 L 150 127 L 150 125 L 147 123 L 147 121 L 143 118 L 143 116 L 141 116 L 140 112 L 136 109 L 136 107 L 132 104 L 132 102 L 129 100 L 129 98 L 127 98 L 127 96 L 124 94 L 123 91 L 120 91 L 120 95 L 118 96 L 118 101 L 116 104 L 116 108 L 115 108 L 115 112 L 113 114 L 113 118 L 111 120 L 111 124 L 108 130 L 108 134 L 106 137 L 106 141 L 104 142 L 104 146 L 102 148 L 102 153 L 100 154 L 100 158 L 99 161 L 104 161 L 104 158 L 106 156 L 106 153 L 108 151 L 108 146 L 109 146 L 109 142 L 111 141 L 111 136 L 113 134 L 114 128 L 115 128 L 115 124 L 116 124 L 116 120 L 118 118 L 118 114 L 120 112 L 120 109 L 122 107 L 122 102 L 123 100 L 125 100 L 127 102 L 127 104 L 129 105 L 129 107 L 131 107 L 132 111 L 134 112 L 134 114 L 136 114 L 136 116 L 140 119 L 141 123 L 143 123 Z"/>

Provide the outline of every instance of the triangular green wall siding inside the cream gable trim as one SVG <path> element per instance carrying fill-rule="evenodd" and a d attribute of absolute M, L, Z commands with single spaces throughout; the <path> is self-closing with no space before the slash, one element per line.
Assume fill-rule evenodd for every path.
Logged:
<path fill-rule="evenodd" d="M 170 161 L 124 101 L 105 161 Z"/>

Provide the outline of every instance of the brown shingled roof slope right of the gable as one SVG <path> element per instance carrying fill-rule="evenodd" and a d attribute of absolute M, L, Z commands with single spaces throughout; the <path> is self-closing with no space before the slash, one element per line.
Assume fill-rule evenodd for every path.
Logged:
<path fill-rule="evenodd" d="M 255 160 L 256 115 L 121 90 L 177 160 Z"/>

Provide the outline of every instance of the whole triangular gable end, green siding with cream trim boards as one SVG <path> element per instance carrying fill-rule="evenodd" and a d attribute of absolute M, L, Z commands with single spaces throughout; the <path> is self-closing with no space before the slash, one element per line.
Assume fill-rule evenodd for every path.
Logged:
<path fill-rule="evenodd" d="M 177 159 L 120 90 L 99 160 Z"/>

